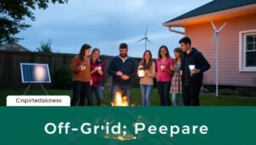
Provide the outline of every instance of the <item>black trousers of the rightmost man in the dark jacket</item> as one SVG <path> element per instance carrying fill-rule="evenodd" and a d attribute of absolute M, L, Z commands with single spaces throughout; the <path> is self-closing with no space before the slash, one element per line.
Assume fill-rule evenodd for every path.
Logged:
<path fill-rule="evenodd" d="M 188 84 L 183 83 L 184 106 L 199 106 L 199 93 L 201 85 L 201 81 L 189 82 Z"/>

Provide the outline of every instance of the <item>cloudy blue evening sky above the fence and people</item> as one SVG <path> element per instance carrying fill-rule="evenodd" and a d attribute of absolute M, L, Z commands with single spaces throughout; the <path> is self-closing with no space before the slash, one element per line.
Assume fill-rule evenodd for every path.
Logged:
<path fill-rule="evenodd" d="M 211 0 L 69 0 L 66 4 L 49 4 L 45 10 L 34 10 L 35 21 L 26 20 L 32 27 L 17 36 L 19 43 L 32 51 L 41 42 L 51 40 L 54 53 L 79 53 L 84 43 L 101 49 L 101 54 L 116 56 L 119 44 L 129 45 L 131 57 L 142 57 L 143 38 L 148 26 L 148 50 L 157 57 L 161 45 L 171 55 L 183 36 L 175 34 L 162 24 L 198 8 Z"/>

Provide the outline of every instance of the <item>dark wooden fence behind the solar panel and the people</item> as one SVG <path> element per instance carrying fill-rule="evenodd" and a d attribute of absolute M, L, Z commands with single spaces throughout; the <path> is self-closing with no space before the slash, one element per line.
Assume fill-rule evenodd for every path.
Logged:
<path fill-rule="evenodd" d="M 26 88 L 27 84 L 22 84 L 20 75 L 20 63 L 49 64 L 51 78 L 55 70 L 70 65 L 74 54 L 67 53 L 34 53 L 34 52 L 11 52 L 0 51 L 0 89 Z M 113 59 L 110 56 L 101 56 L 107 70 L 108 64 Z M 135 58 L 137 64 L 140 59 Z M 104 82 L 110 81 L 110 76 L 106 75 Z M 109 83 L 109 82 L 108 82 Z M 138 85 L 138 78 L 133 80 L 133 86 Z M 53 85 L 45 85 L 51 88 Z"/>

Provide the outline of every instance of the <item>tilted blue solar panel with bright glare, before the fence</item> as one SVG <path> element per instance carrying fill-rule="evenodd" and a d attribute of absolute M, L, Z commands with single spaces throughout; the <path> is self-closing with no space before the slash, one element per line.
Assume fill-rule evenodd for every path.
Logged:
<path fill-rule="evenodd" d="M 22 83 L 50 83 L 48 64 L 20 64 Z"/>

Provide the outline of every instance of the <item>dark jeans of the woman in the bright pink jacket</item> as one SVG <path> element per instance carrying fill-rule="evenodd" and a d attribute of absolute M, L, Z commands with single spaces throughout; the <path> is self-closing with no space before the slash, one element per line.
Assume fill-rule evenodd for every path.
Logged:
<path fill-rule="evenodd" d="M 157 90 L 160 97 L 161 106 L 171 106 L 170 88 L 171 81 L 157 81 Z"/>

